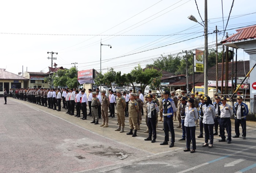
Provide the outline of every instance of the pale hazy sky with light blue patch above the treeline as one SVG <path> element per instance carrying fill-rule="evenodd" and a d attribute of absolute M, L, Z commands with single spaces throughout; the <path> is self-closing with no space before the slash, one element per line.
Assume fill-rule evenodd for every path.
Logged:
<path fill-rule="evenodd" d="M 222 5 L 221 0 L 208 0 L 209 49 L 215 49 L 216 35 L 212 34 L 215 26 L 221 31 L 220 42 L 226 25 L 226 32 L 233 35 L 237 28 L 256 24 L 255 0 L 234 1 L 227 23 L 232 2 L 223 0 Z M 204 20 L 204 0 L 196 3 Z M 51 66 L 51 59 L 47 59 L 51 54 L 47 52 L 54 52 L 58 53 L 53 54 L 57 67 L 71 68 L 72 63 L 78 63 L 78 70 L 94 68 L 99 72 L 101 64 L 103 73 L 113 68 L 123 74 L 138 64 L 143 68 L 152 64 L 161 55 L 204 50 L 204 28 L 199 24 L 202 20 L 196 3 L 195 0 L 1 1 L 0 68 L 18 74 L 23 66 L 24 72 L 27 69 L 46 73 Z M 189 20 L 190 15 L 199 23 Z M 249 55 L 238 49 L 238 60 L 249 60 Z"/>

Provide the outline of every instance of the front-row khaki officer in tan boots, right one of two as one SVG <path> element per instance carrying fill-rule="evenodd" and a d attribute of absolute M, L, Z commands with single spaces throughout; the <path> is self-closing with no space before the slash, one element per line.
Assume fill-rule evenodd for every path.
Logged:
<path fill-rule="evenodd" d="M 125 98 L 121 97 L 121 91 L 116 91 L 116 115 L 117 115 L 117 122 L 118 128 L 115 131 L 124 132 L 124 111 L 126 108 Z"/>

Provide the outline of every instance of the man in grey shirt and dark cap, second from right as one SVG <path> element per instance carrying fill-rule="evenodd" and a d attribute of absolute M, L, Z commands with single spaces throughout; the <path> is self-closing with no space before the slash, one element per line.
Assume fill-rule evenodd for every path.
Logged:
<path fill-rule="evenodd" d="M 231 121 L 230 117 L 233 115 L 233 108 L 227 104 L 227 98 L 221 97 L 222 105 L 219 107 L 221 110 L 221 119 L 219 120 L 219 128 L 221 133 L 221 140 L 219 142 L 225 142 L 225 128 L 227 131 L 227 143 L 231 143 Z"/>

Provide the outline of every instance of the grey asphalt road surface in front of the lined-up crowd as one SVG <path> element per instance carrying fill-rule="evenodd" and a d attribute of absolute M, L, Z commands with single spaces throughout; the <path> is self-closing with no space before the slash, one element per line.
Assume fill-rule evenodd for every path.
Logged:
<path fill-rule="evenodd" d="M 91 124 L 91 117 L 80 120 L 65 114 L 63 109 L 57 112 L 10 97 L 7 105 L 3 103 L 0 97 L 1 173 L 256 172 L 255 122 L 247 122 L 245 140 L 232 138 L 231 144 L 227 144 L 214 136 L 214 147 L 208 149 L 202 147 L 204 139 L 197 138 L 196 152 L 189 153 L 183 151 L 185 142 L 178 141 L 180 128 L 175 128 L 173 148 L 159 145 L 164 139 L 161 122 L 157 142 L 151 143 L 144 141 L 144 121 L 138 136 L 133 138 L 126 135 L 128 122 L 124 133 L 114 131 L 116 118 L 110 118 L 109 127 L 103 128 Z M 232 130 L 234 135 L 233 120 Z M 123 153 L 125 159 L 120 159 L 122 154 L 118 153 Z"/>

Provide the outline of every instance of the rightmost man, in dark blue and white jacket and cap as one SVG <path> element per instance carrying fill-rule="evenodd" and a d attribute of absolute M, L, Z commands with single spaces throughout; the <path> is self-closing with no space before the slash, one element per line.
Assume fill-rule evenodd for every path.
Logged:
<path fill-rule="evenodd" d="M 242 102 L 242 97 L 237 96 L 237 103 L 234 105 L 235 111 L 235 132 L 236 135 L 233 138 L 239 138 L 239 126 L 242 126 L 242 139 L 246 139 L 246 116 L 248 115 L 249 109 L 247 104 Z"/>

